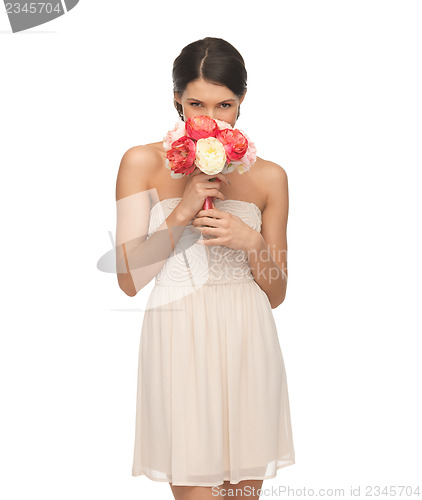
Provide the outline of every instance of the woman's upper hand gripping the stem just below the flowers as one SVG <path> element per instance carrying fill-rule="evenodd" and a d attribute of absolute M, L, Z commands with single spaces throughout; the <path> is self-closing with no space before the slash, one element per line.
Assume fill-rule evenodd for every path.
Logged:
<path fill-rule="evenodd" d="M 195 167 L 195 170 L 188 177 L 189 180 L 186 183 L 182 199 L 176 207 L 177 211 L 183 213 L 186 218 L 193 219 L 202 210 L 207 196 L 220 198 L 220 200 L 226 199 L 223 193 L 220 192 L 221 182 L 217 180 L 210 181 L 210 179 L 217 177 L 225 184 L 230 185 L 230 181 L 224 174 L 208 175 Z"/>

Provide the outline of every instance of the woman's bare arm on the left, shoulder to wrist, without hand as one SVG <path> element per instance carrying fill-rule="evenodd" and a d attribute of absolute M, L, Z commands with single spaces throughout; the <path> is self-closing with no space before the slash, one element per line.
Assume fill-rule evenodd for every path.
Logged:
<path fill-rule="evenodd" d="M 135 146 L 123 155 L 117 175 L 117 280 L 121 290 L 130 297 L 158 274 L 190 222 L 176 207 L 147 238 L 151 191 L 155 191 L 149 189 L 149 179 L 160 161 L 150 148 Z"/>

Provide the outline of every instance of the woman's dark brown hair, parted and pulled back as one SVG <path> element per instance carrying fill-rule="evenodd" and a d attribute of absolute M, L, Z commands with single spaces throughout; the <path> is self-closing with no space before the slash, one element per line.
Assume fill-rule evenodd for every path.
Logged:
<path fill-rule="evenodd" d="M 243 57 L 222 38 L 207 36 L 192 42 L 174 60 L 173 92 L 182 95 L 188 83 L 198 78 L 225 85 L 239 98 L 247 87 Z M 182 105 L 174 100 L 174 106 L 184 120 Z"/>

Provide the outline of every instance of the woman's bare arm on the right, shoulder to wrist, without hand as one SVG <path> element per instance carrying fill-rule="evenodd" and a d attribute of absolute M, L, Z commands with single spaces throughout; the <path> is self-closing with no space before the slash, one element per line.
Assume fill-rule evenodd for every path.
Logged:
<path fill-rule="evenodd" d="M 268 162 L 265 177 L 268 195 L 262 214 L 261 233 L 256 232 L 255 242 L 247 253 L 255 281 L 275 309 L 286 297 L 289 193 L 283 167 Z"/>

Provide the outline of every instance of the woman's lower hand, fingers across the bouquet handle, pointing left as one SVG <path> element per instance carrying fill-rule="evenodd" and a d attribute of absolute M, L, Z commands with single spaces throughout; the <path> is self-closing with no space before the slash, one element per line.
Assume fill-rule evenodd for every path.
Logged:
<path fill-rule="evenodd" d="M 240 217 L 215 207 L 200 210 L 192 220 L 192 225 L 199 229 L 202 235 L 212 236 L 212 238 L 198 240 L 198 244 L 223 245 L 234 250 L 252 250 L 260 234 L 245 224 Z"/>

